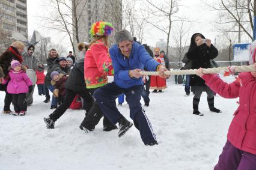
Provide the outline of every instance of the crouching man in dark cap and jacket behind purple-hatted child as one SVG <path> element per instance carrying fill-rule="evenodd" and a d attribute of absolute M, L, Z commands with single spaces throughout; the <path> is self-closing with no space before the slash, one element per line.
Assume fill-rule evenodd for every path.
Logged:
<path fill-rule="evenodd" d="M 44 79 L 44 86 L 47 87 L 53 93 L 54 87 L 50 84 L 50 80 L 52 80 L 52 78 L 50 77 L 50 73 L 52 73 L 52 71 L 58 71 L 58 73 L 62 74 L 69 74 L 70 69 L 69 67 L 67 67 L 67 59 L 64 57 L 55 59 L 55 61 L 53 61 L 52 68 L 47 71 L 47 74 Z M 58 105 L 57 100 L 55 97 L 52 98 L 53 99 L 50 109 L 56 109 Z"/>

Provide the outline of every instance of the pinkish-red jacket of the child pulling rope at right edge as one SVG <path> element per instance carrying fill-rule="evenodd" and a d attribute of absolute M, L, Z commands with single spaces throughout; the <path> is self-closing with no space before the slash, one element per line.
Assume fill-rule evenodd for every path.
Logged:
<path fill-rule="evenodd" d="M 228 129 L 228 141 L 234 147 L 256 154 L 256 78 L 250 72 L 240 73 L 239 80 L 225 83 L 216 74 L 205 74 L 206 85 L 225 98 L 239 97 L 239 107 Z"/>

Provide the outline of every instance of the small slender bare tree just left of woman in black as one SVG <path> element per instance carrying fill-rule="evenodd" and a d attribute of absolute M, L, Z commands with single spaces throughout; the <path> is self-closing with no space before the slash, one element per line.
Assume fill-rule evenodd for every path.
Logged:
<path fill-rule="evenodd" d="M 178 56 L 178 61 L 181 61 L 181 57 L 184 56 L 185 46 L 190 38 L 190 28 L 191 23 L 187 23 L 186 25 L 186 22 L 181 20 L 180 22 L 177 22 L 177 25 L 172 29 L 172 39 L 177 48 L 176 55 Z"/>

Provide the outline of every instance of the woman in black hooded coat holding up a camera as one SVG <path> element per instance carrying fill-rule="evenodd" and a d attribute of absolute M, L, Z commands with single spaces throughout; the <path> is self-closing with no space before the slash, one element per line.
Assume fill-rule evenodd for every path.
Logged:
<path fill-rule="evenodd" d="M 210 68 L 210 59 L 214 59 L 218 56 L 218 50 L 213 46 L 211 40 L 204 37 L 200 33 L 192 35 L 189 50 L 187 52 L 187 58 L 192 60 L 192 69 Z M 207 101 L 212 112 L 221 112 L 219 109 L 214 107 L 214 96 L 213 91 L 206 86 L 203 79 L 200 76 L 192 75 L 190 77 L 191 91 L 195 92 L 193 99 L 193 114 L 203 116 L 200 111 L 198 111 L 198 105 L 200 102 L 200 97 L 203 91 L 207 93 Z"/>

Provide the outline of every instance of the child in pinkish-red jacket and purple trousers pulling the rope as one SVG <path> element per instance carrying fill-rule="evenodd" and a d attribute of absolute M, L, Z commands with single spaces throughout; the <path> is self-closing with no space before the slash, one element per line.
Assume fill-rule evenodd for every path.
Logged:
<path fill-rule="evenodd" d="M 225 83 L 217 74 L 197 74 L 206 80 L 206 85 L 220 96 L 239 97 L 239 107 L 234 112 L 227 142 L 219 156 L 215 170 L 256 169 L 256 41 L 250 47 L 250 61 L 255 71 L 240 73 L 233 83 Z"/>

